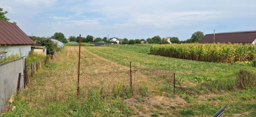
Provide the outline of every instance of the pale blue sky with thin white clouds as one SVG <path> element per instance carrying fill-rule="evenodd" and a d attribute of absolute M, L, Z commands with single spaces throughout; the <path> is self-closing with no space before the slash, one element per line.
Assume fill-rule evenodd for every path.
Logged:
<path fill-rule="evenodd" d="M 147 39 L 256 30 L 256 0 L 0 0 L 27 35 Z"/>

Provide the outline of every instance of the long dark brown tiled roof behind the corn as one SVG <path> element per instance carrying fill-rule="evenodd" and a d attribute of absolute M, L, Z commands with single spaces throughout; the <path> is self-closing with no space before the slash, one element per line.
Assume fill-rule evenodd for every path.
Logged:
<path fill-rule="evenodd" d="M 227 33 L 215 33 L 215 43 L 252 43 L 256 39 L 256 30 Z M 213 43 L 213 34 L 207 34 L 200 43 Z"/>

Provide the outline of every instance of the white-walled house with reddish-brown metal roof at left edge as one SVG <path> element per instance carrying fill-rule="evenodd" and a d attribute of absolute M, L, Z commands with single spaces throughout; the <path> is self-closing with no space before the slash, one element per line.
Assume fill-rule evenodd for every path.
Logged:
<path fill-rule="evenodd" d="M 0 20 L 0 51 L 7 52 L 6 55 L 18 53 L 27 56 L 31 51 L 31 44 L 35 42 L 17 25 Z"/>

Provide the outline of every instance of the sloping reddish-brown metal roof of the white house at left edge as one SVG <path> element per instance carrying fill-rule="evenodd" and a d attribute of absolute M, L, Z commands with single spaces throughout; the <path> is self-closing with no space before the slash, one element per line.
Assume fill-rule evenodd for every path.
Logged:
<path fill-rule="evenodd" d="M 0 20 L 0 45 L 35 44 L 17 25 Z"/>

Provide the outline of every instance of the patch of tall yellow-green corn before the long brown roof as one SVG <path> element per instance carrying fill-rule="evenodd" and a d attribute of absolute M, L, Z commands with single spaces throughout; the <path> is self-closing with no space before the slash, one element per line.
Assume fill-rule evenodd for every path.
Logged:
<path fill-rule="evenodd" d="M 153 45 L 150 53 L 165 57 L 204 62 L 232 63 L 256 59 L 256 46 L 252 44 L 165 44 Z"/>

